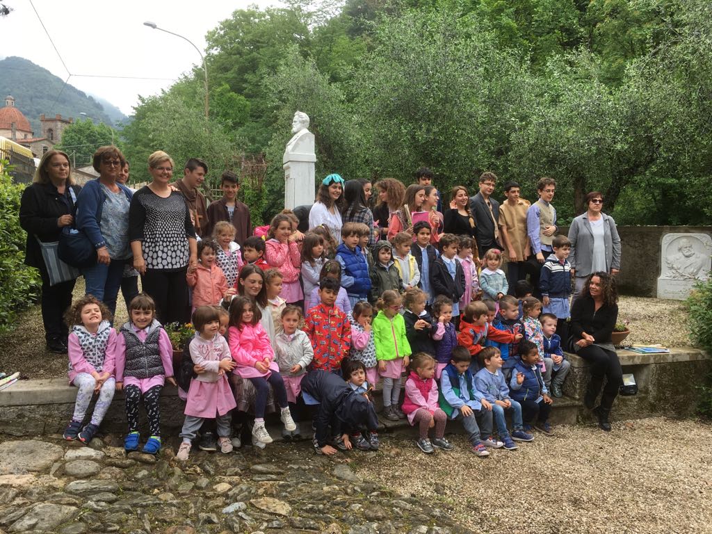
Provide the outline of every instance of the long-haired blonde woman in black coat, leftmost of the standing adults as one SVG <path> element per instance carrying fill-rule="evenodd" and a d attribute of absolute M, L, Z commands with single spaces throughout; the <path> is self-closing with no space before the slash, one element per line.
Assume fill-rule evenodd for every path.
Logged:
<path fill-rule="evenodd" d="M 20 226 L 27 232 L 25 263 L 40 271 L 47 350 L 56 354 L 67 353 L 68 328 L 63 315 L 72 303 L 76 279 L 52 286 L 40 243 L 58 241 L 63 227 L 73 223 L 72 213 L 80 189 L 72 184 L 69 156 L 60 150 L 48 150 L 20 201 Z"/>

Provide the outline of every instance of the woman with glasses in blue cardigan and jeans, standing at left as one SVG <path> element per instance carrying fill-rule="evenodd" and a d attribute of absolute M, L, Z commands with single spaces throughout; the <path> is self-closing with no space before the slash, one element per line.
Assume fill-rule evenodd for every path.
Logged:
<path fill-rule="evenodd" d="M 117 147 L 100 147 L 92 162 L 99 177 L 88 182 L 77 199 L 76 227 L 84 231 L 97 256 L 93 266 L 82 269 L 86 293 L 105 303 L 112 315 L 124 265 L 131 258 L 129 206 L 133 193 L 117 182 L 125 162 Z"/>

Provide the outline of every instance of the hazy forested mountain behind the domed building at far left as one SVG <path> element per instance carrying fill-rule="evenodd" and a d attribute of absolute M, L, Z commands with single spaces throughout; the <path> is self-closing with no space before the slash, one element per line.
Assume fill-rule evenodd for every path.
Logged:
<path fill-rule="evenodd" d="M 15 105 L 30 121 L 35 135 L 41 132 L 39 117 L 42 113 L 76 120 L 83 118 L 80 112 L 84 112 L 110 126 L 127 121 L 127 117 L 106 100 L 93 98 L 73 85 L 62 88 L 63 85 L 64 80 L 24 58 L 11 56 L 0 61 L 0 98 L 14 96 Z"/>

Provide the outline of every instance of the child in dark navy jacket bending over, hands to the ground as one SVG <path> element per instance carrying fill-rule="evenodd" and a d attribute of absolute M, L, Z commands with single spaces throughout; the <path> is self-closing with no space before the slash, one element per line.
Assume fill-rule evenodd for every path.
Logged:
<path fill-rule="evenodd" d="M 313 417 L 314 449 L 318 454 L 336 454 L 328 443 L 330 425 L 332 436 L 338 436 L 347 449 L 351 448 L 349 435 L 365 426 L 371 449 L 378 450 L 378 417 L 373 403 L 357 394 L 339 375 L 322 370 L 308 372 L 302 380 L 302 396 L 307 404 L 319 404 Z"/>

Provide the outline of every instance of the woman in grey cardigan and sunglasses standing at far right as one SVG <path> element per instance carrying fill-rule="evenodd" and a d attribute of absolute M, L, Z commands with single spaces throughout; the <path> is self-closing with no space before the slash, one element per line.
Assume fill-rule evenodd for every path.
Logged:
<path fill-rule="evenodd" d="M 602 213 L 603 195 L 586 195 L 585 213 L 577 216 L 569 229 L 571 273 L 576 276 L 573 300 L 581 293 L 587 276 L 597 271 L 615 276 L 621 268 L 621 239 L 616 222 Z"/>

